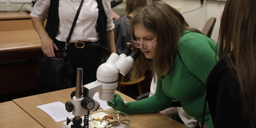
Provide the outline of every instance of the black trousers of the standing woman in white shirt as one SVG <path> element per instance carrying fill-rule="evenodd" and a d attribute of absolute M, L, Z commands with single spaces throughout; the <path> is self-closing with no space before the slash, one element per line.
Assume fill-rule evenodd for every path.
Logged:
<path fill-rule="evenodd" d="M 55 44 L 62 52 L 65 42 L 55 41 Z M 76 68 L 83 68 L 83 84 L 88 84 L 96 81 L 96 72 L 98 67 L 101 65 L 100 51 L 97 48 L 77 48 L 74 43 L 70 43 L 66 51 L 68 57 L 70 57 L 71 65 L 74 70 L 73 72 L 73 85 L 76 85 Z"/>

